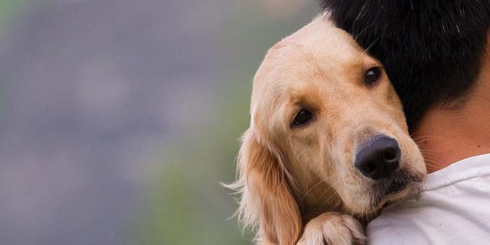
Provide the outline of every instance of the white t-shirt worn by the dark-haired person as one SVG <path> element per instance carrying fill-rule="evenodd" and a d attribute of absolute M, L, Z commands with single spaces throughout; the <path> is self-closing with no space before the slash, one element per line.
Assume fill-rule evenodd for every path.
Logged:
<path fill-rule="evenodd" d="M 366 228 L 367 244 L 490 244 L 490 154 L 428 174 L 419 195 L 387 207 Z"/>

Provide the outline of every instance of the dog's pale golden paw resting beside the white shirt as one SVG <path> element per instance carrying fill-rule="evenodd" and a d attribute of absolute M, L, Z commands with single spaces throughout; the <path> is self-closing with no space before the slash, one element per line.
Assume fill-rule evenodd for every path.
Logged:
<path fill-rule="evenodd" d="M 347 214 L 328 212 L 307 223 L 296 245 L 363 245 L 364 241 L 359 221 Z"/>

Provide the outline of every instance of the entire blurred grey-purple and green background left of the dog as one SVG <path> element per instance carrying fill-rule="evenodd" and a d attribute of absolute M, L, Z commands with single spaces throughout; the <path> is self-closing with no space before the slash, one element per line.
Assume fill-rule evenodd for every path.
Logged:
<path fill-rule="evenodd" d="M 235 179 L 302 0 L 0 0 L 0 244 L 251 244 Z"/>

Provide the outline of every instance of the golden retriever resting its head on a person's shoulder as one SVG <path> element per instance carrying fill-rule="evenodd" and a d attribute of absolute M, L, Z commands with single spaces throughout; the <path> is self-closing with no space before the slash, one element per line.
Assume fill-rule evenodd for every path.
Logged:
<path fill-rule="evenodd" d="M 323 13 L 270 48 L 253 79 L 237 215 L 257 244 L 363 244 L 426 167 L 381 63 Z"/>

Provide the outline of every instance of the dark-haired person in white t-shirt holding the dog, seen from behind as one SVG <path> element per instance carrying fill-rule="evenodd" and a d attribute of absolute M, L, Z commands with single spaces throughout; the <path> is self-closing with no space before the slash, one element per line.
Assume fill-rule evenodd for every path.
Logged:
<path fill-rule="evenodd" d="M 325 0 L 384 64 L 428 176 L 368 244 L 490 244 L 490 1 Z"/>

